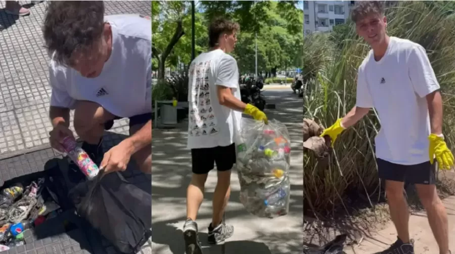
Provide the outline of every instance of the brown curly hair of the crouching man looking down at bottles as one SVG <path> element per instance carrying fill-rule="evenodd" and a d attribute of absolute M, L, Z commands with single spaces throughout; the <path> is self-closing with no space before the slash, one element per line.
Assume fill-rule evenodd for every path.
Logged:
<path fill-rule="evenodd" d="M 76 50 L 92 49 L 103 31 L 103 1 L 52 1 L 42 28 L 49 54 L 55 54 L 54 60 L 64 65 L 71 65 L 71 55 Z"/>

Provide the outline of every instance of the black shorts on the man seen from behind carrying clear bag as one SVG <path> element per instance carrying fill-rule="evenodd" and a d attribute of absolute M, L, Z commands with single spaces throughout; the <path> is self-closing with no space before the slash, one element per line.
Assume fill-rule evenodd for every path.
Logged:
<path fill-rule="evenodd" d="M 191 149 L 191 161 L 192 171 L 198 175 L 208 174 L 215 163 L 218 171 L 231 170 L 236 163 L 236 145 Z"/>

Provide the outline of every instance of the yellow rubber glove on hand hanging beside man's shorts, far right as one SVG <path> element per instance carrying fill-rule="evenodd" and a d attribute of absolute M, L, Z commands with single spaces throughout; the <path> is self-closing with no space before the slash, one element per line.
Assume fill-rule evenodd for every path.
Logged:
<path fill-rule="evenodd" d="M 430 134 L 428 139 L 430 140 L 430 163 L 433 164 L 434 157 L 436 157 L 440 168 L 450 170 L 453 166 L 453 154 L 444 139 L 435 134 Z"/>

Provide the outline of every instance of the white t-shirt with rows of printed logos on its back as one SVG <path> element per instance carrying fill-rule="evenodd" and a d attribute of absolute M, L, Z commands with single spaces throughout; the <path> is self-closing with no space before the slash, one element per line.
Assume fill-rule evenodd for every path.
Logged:
<path fill-rule="evenodd" d="M 219 104 L 216 86 L 231 88 L 240 100 L 237 61 L 222 50 L 214 50 L 194 59 L 189 72 L 188 148 L 231 145 L 242 113 Z"/>

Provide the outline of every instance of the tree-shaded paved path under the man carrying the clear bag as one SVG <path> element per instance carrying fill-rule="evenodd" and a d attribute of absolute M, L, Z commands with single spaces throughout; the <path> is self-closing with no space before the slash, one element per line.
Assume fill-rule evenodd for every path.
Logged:
<path fill-rule="evenodd" d="M 269 220 L 249 215 L 239 201 L 239 181 L 232 176 L 232 195 L 226 211 L 226 221 L 235 227 L 234 236 L 225 244 L 225 253 L 302 253 L 303 251 L 303 150 L 302 100 L 292 90 L 267 90 L 268 103 L 275 110 L 266 110 L 288 126 L 292 140 L 290 214 Z M 152 164 L 152 252 L 184 254 L 181 228 L 186 217 L 186 188 L 191 180 L 191 156 L 186 149 L 187 123 L 173 130 L 154 130 Z M 205 200 L 198 217 L 200 240 L 204 253 L 221 253 L 220 247 L 208 247 L 207 226 L 211 221 L 211 199 L 216 185 L 216 173 L 207 179 Z"/>

